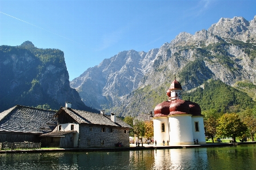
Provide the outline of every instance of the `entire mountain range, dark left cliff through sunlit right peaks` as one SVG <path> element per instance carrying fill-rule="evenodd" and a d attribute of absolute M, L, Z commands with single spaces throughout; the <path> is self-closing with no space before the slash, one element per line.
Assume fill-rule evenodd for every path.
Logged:
<path fill-rule="evenodd" d="M 183 99 L 202 110 L 241 111 L 255 105 L 256 16 L 221 18 L 194 35 L 181 32 L 148 52 L 122 51 L 69 82 L 64 53 L 27 41 L 0 46 L 0 112 L 14 105 L 137 116 L 167 99 L 174 79 Z M 94 109 L 93 109 L 94 108 Z"/>

